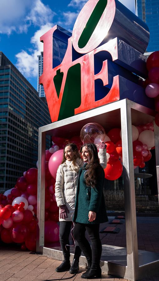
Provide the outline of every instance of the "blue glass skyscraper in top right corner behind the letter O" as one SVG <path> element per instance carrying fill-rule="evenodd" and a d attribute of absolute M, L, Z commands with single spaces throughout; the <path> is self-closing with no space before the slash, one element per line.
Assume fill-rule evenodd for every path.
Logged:
<path fill-rule="evenodd" d="M 137 13 L 150 30 L 146 52 L 159 51 L 159 0 L 137 0 Z"/>

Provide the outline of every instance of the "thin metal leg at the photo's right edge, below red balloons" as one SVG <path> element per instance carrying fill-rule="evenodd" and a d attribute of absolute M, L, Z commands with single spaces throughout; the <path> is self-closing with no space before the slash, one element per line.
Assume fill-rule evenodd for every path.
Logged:
<path fill-rule="evenodd" d="M 154 135 L 155 135 L 155 154 L 156 154 L 156 170 L 157 170 L 157 188 L 158 188 L 158 200 L 159 200 L 159 127 L 154 121 Z"/>

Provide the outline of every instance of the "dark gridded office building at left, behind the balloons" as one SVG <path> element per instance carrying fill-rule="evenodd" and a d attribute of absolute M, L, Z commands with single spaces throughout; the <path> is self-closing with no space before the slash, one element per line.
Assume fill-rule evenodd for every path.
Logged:
<path fill-rule="evenodd" d="M 45 101 L 0 52 L 0 192 L 14 187 L 24 171 L 36 167 L 38 128 L 49 123 Z"/>

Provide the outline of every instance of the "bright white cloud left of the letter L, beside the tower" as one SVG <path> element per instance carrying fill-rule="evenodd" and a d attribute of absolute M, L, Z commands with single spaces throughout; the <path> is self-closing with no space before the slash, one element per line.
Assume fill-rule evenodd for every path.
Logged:
<path fill-rule="evenodd" d="M 31 43 L 33 44 L 34 49 L 29 50 L 29 52 L 22 50 L 16 55 L 16 67 L 25 77 L 37 77 L 37 55 L 40 55 L 41 51 L 43 51 L 43 43 L 40 42 L 40 37 L 49 29 L 51 29 L 52 26 L 52 23 L 47 23 L 46 25 L 42 26 L 39 30 L 37 30 L 34 36 L 31 37 Z"/>

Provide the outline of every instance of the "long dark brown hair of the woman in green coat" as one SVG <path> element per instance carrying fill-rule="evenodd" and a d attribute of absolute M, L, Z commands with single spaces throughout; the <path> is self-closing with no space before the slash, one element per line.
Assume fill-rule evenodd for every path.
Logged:
<path fill-rule="evenodd" d="M 89 163 L 86 165 L 87 171 L 84 174 L 86 185 L 95 187 L 97 185 L 98 171 L 103 169 L 99 163 L 98 150 L 94 143 L 87 143 L 81 146 L 80 153 L 83 147 L 88 150 L 90 157 Z"/>

